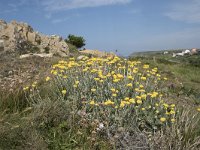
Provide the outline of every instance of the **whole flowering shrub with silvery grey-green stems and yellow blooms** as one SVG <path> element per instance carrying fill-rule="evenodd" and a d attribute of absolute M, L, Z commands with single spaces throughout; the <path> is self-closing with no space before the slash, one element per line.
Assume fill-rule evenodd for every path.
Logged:
<path fill-rule="evenodd" d="M 167 78 L 148 64 L 119 57 L 70 58 L 53 65 L 51 74 L 45 78 L 49 94 L 69 101 L 75 112 L 84 111 L 105 128 L 155 131 L 176 121 L 175 104 L 165 96 Z M 39 99 L 36 83 L 31 90 L 31 99 Z"/>

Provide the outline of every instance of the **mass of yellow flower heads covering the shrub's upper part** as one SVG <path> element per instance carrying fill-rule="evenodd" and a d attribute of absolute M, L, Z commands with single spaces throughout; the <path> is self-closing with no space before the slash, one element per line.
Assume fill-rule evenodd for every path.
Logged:
<path fill-rule="evenodd" d="M 59 91 L 63 99 L 84 97 L 88 99 L 86 107 L 95 110 L 134 110 L 140 117 L 152 115 L 162 123 L 175 122 L 175 105 L 163 100 L 161 81 L 167 78 L 159 74 L 158 68 L 148 64 L 119 57 L 70 58 L 53 65 L 51 74 L 45 80 L 63 89 Z M 32 85 L 35 86 L 36 83 Z"/>

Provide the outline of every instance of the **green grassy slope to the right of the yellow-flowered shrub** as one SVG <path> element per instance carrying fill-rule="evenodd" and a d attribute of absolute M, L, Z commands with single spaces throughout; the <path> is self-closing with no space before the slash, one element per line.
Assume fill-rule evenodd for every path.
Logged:
<path fill-rule="evenodd" d="M 173 58 L 172 53 L 167 55 L 163 55 L 162 52 L 142 54 L 132 56 L 130 59 L 157 66 L 175 85 L 177 88 L 174 90 L 175 93 L 190 97 L 192 104 L 200 103 L 200 55 Z"/>

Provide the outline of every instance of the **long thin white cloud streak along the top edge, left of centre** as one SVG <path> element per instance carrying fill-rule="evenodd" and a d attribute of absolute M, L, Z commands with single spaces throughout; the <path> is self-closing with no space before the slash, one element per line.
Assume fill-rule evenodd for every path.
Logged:
<path fill-rule="evenodd" d="M 132 0 L 43 0 L 46 11 L 59 11 L 84 7 L 127 4 Z"/>

